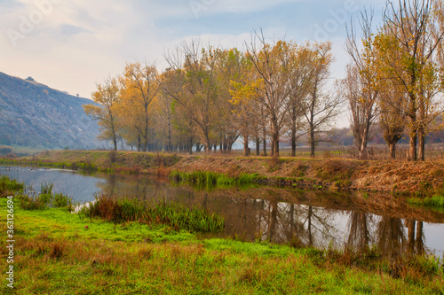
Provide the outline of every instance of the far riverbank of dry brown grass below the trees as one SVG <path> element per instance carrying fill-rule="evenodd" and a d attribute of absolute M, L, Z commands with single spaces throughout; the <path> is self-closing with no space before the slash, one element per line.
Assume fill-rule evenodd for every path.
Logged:
<path fill-rule="evenodd" d="M 44 151 L 33 157 L 0 159 L 20 164 L 123 174 L 170 175 L 172 171 L 213 172 L 229 177 L 255 174 L 256 181 L 279 186 L 442 194 L 444 163 L 352 159 L 301 159 L 232 156 L 178 156 L 131 151 Z"/>

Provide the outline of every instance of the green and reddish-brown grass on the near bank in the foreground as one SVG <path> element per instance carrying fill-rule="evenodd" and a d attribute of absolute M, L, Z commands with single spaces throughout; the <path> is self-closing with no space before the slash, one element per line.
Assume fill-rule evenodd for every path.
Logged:
<path fill-rule="evenodd" d="M 5 198 L 0 210 L 5 257 Z M 200 238 L 165 225 L 81 219 L 61 208 L 15 206 L 14 222 L 16 294 L 444 292 L 437 269 L 418 274 L 399 265 L 402 278 L 395 279 L 379 269 L 345 266 L 313 249 Z M 6 283 L 0 292 L 12 293 Z"/>

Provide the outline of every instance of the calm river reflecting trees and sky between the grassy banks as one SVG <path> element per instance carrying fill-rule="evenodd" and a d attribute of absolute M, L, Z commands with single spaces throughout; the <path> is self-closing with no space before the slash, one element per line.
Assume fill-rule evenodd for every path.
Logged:
<path fill-rule="evenodd" d="M 91 201 L 94 193 L 102 191 L 113 198 L 164 198 L 202 206 L 225 216 L 228 237 L 318 248 L 376 245 L 391 257 L 425 252 L 444 258 L 444 214 L 410 207 L 384 195 L 270 187 L 194 190 L 166 178 L 88 176 L 27 167 L 1 167 L 0 173 L 27 182 L 36 191 L 40 183 L 52 182 L 54 191 L 80 202 Z"/>

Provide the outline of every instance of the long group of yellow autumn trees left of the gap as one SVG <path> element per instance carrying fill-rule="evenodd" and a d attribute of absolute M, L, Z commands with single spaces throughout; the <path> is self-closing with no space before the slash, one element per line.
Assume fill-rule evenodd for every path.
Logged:
<path fill-rule="evenodd" d="M 279 142 L 308 135 L 314 155 L 339 99 L 325 94 L 333 61 L 330 43 L 266 43 L 259 32 L 242 52 L 182 43 L 167 54 L 169 67 L 128 64 L 123 74 L 98 84 L 85 112 L 99 120 L 101 138 L 139 151 L 231 151 L 241 138 L 279 156 Z"/>

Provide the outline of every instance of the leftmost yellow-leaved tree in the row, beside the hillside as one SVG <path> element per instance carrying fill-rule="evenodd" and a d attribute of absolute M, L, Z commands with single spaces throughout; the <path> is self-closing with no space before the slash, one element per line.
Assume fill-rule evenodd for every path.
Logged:
<path fill-rule="evenodd" d="M 112 140 L 115 151 L 119 131 L 115 105 L 120 101 L 120 89 L 115 78 L 108 78 L 103 84 L 97 84 L 97 91 L 92 92 L 92 100 L 98 105 L 83 105 L 83 111 L 94 120 L 99 121 L 100 139 Z"/>

